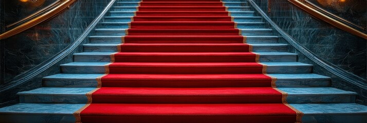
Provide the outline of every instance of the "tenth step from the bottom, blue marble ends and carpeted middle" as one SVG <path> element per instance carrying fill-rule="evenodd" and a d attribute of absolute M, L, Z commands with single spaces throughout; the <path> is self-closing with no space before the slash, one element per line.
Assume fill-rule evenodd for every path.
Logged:
<path fill-rule="evenodd" d="M 103 22 L 132 22 L 136 21 L 137 18 L 144 19 L 144 22 L 159 22 L 166 21 L 167 19 L 175 18 L 174 22 L 185 21 L 185 19 L 189 19 L 189 21 L 193 22 L 202 22 L 208 20 L 221 19 L 223 17 L 229 18 L 228 16 L 105 16 Z M 263 19 L 260 16 L 232 16 L 234 22 L 245 23 L 245 22 L 262 22 Z M 195 20 L 192 20 L 195 19 Z M 171 21 L 171 20 L 170 20 Z M 142 21 L 139 21 L 142 22 Z"/>

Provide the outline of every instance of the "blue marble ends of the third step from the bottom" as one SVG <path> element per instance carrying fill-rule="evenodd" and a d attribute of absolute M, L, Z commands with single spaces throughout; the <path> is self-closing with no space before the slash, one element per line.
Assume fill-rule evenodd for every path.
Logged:
<path fill-rule="evenodd" d="M 103 74 L 56 74 L 43 78 L 44 87 L 97 87 L 97 77 Z M 127 74 L 130 75 L 130 74 Z M 151 74 L 139 74 L 152 76 Z M 269 74 L 277 78 L 277 87 L 329 87 L 331 78 L 318 74 Z M 177 75 L 176 75 L 177 76 Z M 159 78 L 157 74 L 156 78 Z M 177 76 L 179 77 L 179 76 Z M 180 77 L 185 79 L 186 77 Z M 162 78 L 164 80 L 164 78 Z M 188 80 L 188 79 L 185 79 Z"/>

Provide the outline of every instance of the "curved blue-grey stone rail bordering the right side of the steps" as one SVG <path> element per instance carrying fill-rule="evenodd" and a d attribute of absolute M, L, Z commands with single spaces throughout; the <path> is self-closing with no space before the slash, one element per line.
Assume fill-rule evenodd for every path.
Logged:
<path fill-rule="evenodd" d="M 313 52 L 309 51 L 307 48 L 296 42 L 295 39 L 293 39 L 290 35 L 288 35 L 284 30 L 282 30 L 276 23 L 274 23 L 270 17 L 268 17 L 263 10 L 260 9 L 258 5 L 255 4 L 252 0 L 247 0 L 252 7 L 260 13 L 261 16 L 264 17 L 264 19 L 270 24 L 272 28 L 277 30 L 280 35 L 287 40 L 287 42 L 293 46 L 295 49 L 300 51 L 300 53 L 304 54 L 307 58 L 309 58 L 311 61 L 315 62 L 317 65 L 321 66 L 322 68 L 326 69 L 327 71 L 331 72 L 332 74 L 340 77 L 344 81 L 348 81 L 351 84 L 360 87 L 361 89 L 367 90 L 367 83 L 366 79 L 361 78 L 355 74 L 349 73 L 338 66 L 335 66 L 332 63 L 329 63 L 328 61 L 324 60 L 320 56 L 317 56 Z"/>

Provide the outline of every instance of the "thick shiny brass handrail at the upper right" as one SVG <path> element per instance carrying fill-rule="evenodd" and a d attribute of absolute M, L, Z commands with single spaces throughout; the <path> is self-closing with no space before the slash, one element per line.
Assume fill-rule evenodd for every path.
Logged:
<path fill-rule="evenodd" d="M 358 31 L 348 25 L 345 25 L 343 24 L 342 22 L 340 22 L 339 20 L 336 20 L 332 17 L 329 17 L 325 14 L 323 14 L 322 12 L 314 9 L 313 7 L 310 7 L 302 2 L 300 2 L 300 0 L 288 0 L 288 2 L 298 6 L 299 8 L 305 10 L 307 13 L 309 13 L 310 15 L 313 15 L 314 17 L 317 17 L 319 19 L 322 19 L 324 20 L 325 22 L 335 26 L 335 27 L 338 27 L 339 29 L 342 29 L 346 32 L 349 32 L 349 33 L 352 33 L 353 35 L 356 35 L 356 36 L 359 36 L 359 37 L 362 37 L 364 39 L 367 39 L 367 34 L 361 32 L 361 31 Z"/>

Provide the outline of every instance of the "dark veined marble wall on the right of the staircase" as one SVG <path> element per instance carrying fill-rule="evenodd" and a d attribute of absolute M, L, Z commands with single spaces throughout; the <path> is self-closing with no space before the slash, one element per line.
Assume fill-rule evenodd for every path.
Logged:
<path fill-rule="evenodd" d="M 366 78 L 367 40 L 316 19 L 287 0 L 255 0 L 254 2 L 268 14 L 274 23 L 305 48 L 343 70 Z M 350 18 L 354 18 L 357 22 L 365 21 L 360 16 L 351 16 Z M 285 40 L 281 40 L 281 42 L 287 43 Z M 294 48 L 289 48 L 289 51 L 299 53 Z M 333 87 L 359 93 L 359 103 L 367 104 L 366 89 L 343 81 L 301 53 L 299 53 L 298 60 L 315 65 L 314 73 L 332 77 Z"/>

